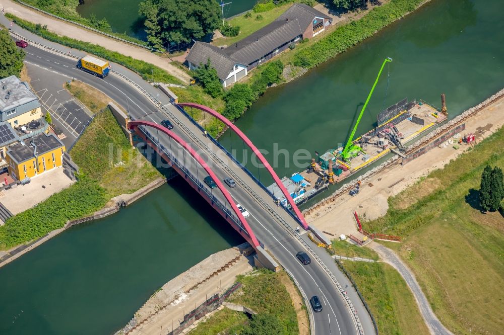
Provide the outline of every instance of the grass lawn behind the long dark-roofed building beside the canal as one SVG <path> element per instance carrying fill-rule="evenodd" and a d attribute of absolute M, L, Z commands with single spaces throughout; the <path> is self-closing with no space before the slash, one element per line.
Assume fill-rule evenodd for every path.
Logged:
<path fill-rule="evenodd" d="M 275 21 L 276 18 L 282 15 L 283 12 L 285 12 L 291 6 L 292 4 L 286 4 L 283 6 L 275 7 L 271 11 L 263 13 L 255 13 L 254 11 L 251 11 L 250 14 L 252 14 L 252 16 L 250 18 L 245 18 L 245 14 L 237 16 L 236 18 L 229 20 L 229 24 L 233 27 L 239 26 L 240 33 L 234 37 L 221 37 L 214 39 L 212 41 L 212 44 L 216 46 L 221 46 L 221 45 L 230 45 L 235 42 L 238 42 L 239 40 L 247 37 L 248 35 L 256 32 L 257 30 Z M 256 17 L 258 15 L 261 15 L 263 19 L 256 20 Z"/>

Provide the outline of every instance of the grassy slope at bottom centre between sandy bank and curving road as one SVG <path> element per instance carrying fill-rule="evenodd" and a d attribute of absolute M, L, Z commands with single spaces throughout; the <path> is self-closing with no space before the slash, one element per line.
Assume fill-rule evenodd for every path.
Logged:
<path fill-rule="evenodd" d="M 257 270 L 247 276 L 238 276 L 236 281 L 242 284 L 227 301 L 244 305 L 257 313 L 268 313 L 277 316 L 283 326 L 284 335 L 298 334 L 296 310 L 292 298 L 282 284 L 288 275 L 281 271 L 274 273 L 268 270 Z M 304 308 L 306 310 L 306 308 Z M 248 318 L 239 312 L 223 309 L 212 315 L 207 321 L 193 329 L 191 335 L 239 333 Z"/>

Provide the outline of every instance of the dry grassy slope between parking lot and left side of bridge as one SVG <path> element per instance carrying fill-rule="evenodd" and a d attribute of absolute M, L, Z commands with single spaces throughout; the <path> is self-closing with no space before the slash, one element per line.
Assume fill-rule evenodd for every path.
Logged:
<path fill-rule="evenodd" d="M 133 193 L 162 175 L 132 149 L 112 112 L 98 114 L 70 152 L 81 171 L 97 180 L 109 197 Z M 114 166 L 122 162 L 120 165 Z"/>

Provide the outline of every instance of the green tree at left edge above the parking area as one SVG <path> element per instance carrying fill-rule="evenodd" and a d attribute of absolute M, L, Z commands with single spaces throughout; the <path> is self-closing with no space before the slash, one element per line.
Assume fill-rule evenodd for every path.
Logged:
<path fill-rule="evenodd" d="M 0 30 L 0 78 L 19 77 L 24 59 L 25 52 L 16 47 L 7 29 Z"/>

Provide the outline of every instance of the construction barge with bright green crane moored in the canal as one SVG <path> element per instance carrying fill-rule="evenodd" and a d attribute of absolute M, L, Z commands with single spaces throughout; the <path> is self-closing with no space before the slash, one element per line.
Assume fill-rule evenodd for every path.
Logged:
<path fill-rule="evenodd" d="M 408 102 L 405 98 L 379 113 L 374 129 L 354 138 L 380 75 L 386 63 L 391 61 L 391 58 L 384 60 L 346 145 L 328 150 L 322 155 L 316 152 L 316 158 L 311 159 L 306 170 L 282 179 L 295 203 L 307 201 L 329 185 L 340 183 L 389 152 L 404 156 L 408 142 L 448 119 L 444 94 L 441 95 L 442 109 L 439 111 L 422 100 Z M 273 184 L 268 189 L 279 203 L 288 206 L 287 199 L 278 187 Z M 358 192 L 359 184 L 350 191 L 350 195 Z"/>

